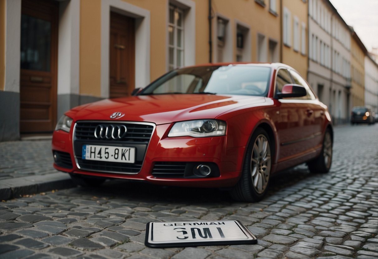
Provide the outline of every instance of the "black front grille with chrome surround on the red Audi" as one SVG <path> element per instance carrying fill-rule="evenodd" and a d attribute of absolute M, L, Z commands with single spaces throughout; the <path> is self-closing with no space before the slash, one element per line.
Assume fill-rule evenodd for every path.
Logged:
<path fill-rule="evenodd" d="M 107 127 L 125 126 L 127 132 L 121 139 L 112 137 L 96 138 L 98 125 Z M 152 137 L 155 125 L 143 122 L 79 121 L 74 126 L 73 147 L 77 166 L 82 170 L 104 173 L 137 174 L 142 168 L 147 146 Z M 83 145 L 103 145 L 135 148 L 135 163 L 121 163 L 82 159 Z"/>

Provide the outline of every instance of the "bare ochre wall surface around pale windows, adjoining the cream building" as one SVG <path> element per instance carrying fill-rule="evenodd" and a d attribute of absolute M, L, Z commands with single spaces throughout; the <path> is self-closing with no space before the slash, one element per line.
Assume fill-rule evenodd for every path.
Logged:
<path fill-rule="evenodd" d="M 307 3 L 304 3 L 302 0 L 282 0 L 282 6 L 289 9 L 291 12 L 291 46 L 285 46 L 282 47 L 282 63 L 285 63 L 289 66 L 292 66 L 294 69 L 296 69 L 305 79 L 307 79 L 307 56 L 308 56 L 308 22 L 307 22 L 307 14 L 308 14 L 308 8 Z M 294 25 L 294 15 L 298 17 L 299 20 L 299 51 L 294 51 L 294 31 L 293 31 L 293 25 Z M 282 19 L 282 17 L 281 17 Z M 301 47 L 302 47 L 302 22 L 306 25 L 306 37 L 305 37 L 305 46 L 306 51 L 305 55 L 301 53 Z"/>

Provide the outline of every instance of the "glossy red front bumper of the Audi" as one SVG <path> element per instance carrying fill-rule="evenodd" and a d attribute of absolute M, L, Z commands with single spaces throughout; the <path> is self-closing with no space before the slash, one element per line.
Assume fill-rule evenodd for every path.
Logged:
<path fill-rule="evenodd" d="M 73 134 L 74 129 L 71 129 L 71 133 L 54 131 L 52 141 L 54 168 L 67 173 L 146 180 L 160 185 L 231 187 L 237 183 L 244 147 L 227 148 L 226 136 L 167 137 L 170 126 L 171 124 L 154 125 L 148 143 L 128 142 L 126 144 L 78 139 Z M 88 144 L 135 147 L 136 161 L 133 164 L 113 162 L 111 165 L 107 162 L 101 166 L 96 165 L 98 162 L 92 160 L 86 160 L 83 163 L 81 147 Z M 208 175 L 199 173 L 198 167 L 201 165 L 208 167 L 211 173 Z M 114 170 L 115 167 L 118 167 L 118 171 Z"/>

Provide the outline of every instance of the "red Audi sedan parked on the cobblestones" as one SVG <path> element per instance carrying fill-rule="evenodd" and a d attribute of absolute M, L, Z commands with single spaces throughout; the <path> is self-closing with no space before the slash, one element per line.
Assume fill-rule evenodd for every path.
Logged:
<path fill-rule="evenodd" d="M 332 163 L 327 106 L 290 66 L 209 64 L 168 72 L 134 96 L 67 111 L 53 134 L 54 167 L 79 185 L 107 178 L 229 187 L 257 201 L 271 175 Z"/>

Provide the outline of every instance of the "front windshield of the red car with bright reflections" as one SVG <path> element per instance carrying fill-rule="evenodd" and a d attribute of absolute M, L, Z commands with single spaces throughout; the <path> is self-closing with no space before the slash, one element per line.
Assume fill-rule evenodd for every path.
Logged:
<path fill-rule="evenodd" d="M 203 66 L 168 72 L 140 94 L 240 94 L 267 96 L 270 68 Z"/>

